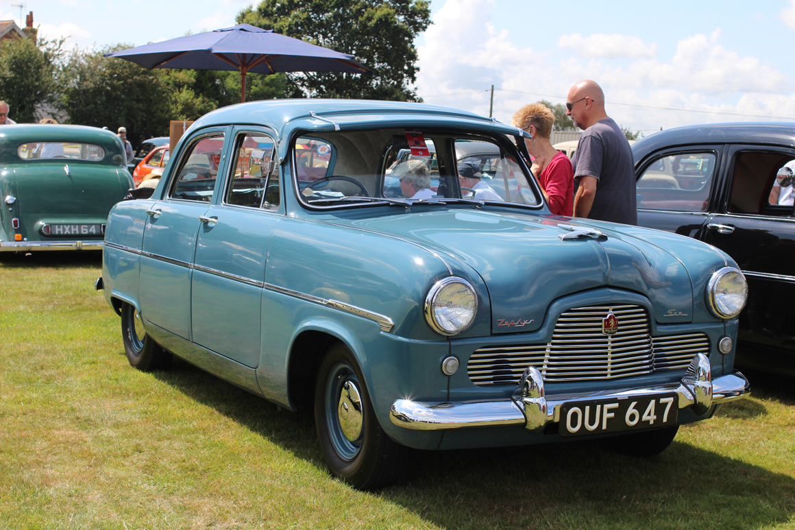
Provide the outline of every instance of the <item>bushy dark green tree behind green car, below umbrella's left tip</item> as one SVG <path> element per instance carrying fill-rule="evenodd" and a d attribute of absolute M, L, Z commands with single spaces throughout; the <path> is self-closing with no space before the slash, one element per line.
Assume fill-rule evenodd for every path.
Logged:
<path fill-rule="evenodd" d="M 172 119 L 173 89 L 162 80 L 162 72 L 146 70 L 129 60 L 103 57 L 129 45 L 99 51 L 72 51 L 60 76 L 60 107 L 69 123 L 127 129 L 136 146 L 146 138 L 165 135 Z"/>

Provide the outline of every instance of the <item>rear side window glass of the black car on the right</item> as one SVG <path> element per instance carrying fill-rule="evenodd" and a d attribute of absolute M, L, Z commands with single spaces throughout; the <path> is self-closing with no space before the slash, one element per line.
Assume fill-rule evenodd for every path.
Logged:
<path fill-rule="evenodd" d="M 677 153 L 654 159 L 638 178 L 638 208 L 705 212 L 715 180 L 715 153 Z"/>

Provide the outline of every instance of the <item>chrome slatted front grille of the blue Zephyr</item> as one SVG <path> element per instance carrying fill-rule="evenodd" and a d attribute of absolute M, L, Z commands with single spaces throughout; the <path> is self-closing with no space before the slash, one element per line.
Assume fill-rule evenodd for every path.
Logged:
<path fill-rule="evenodd" d="M 602 333 L 609 313 L 619 321 L 612 336 Z M 703 333 L 652 338 L 641 306 L 578 307 L 560 315 L 549 343 L 478 349 L 467 373 L 478 385 L 517 384 L 528 366 L 547 381 L 615 379 L 684 369 L 696 353 L 709 354 Z"/>

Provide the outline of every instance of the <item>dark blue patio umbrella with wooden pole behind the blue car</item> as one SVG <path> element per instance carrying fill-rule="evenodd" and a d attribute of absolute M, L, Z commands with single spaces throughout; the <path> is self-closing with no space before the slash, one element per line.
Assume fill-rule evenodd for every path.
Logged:
<path fill-rule="evenodd" d="M 373 73 L 352 55 L 273 33 L 250 24 L 215 29 L 169 41 L 122 49 L 105 57 L 130 60 L 149 70 L 238 70 L 240 101 L 246 100 L 246 73 L 349 72 Z"/>

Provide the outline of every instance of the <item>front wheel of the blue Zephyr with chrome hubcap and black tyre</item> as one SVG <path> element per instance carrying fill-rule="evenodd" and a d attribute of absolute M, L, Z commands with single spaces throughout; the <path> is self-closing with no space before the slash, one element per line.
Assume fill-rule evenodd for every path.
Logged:
<path fill-rule="evenodd" d="M 320 363 L 315 424 L 320 449 L 335 477 L 355 489 L 382 488 L 399 477 L 405 447 L 381 428 L 359 365 L 343 345 L 329 348 Z"/>

